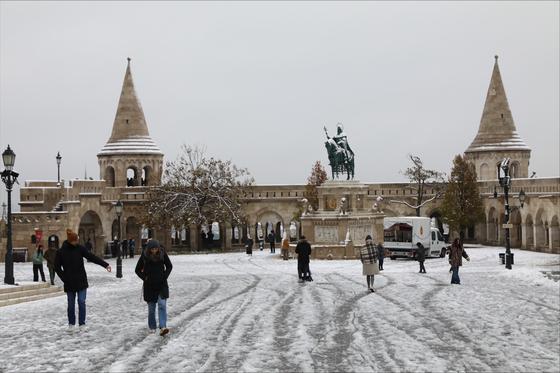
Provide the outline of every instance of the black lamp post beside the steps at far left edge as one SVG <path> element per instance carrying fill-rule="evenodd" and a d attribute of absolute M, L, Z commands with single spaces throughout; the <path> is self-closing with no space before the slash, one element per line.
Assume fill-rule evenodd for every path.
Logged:
<path fill-rule="evenodd" d="M 19 174 L 13 171 L 14 163 L 16 163 L 16 153 L 8 148 L 2 153 L 2 161 L 4 162 L 5 170 L 2 171 L 2 181 L 6 184 L 6 191 L 8 192 L 8 240 L 6 242 L 6 258 L 5 258 L 5 276 L 4 283 L 8 285 L 14 284 L 14 257 L 12 248 L 12 187 L 17 183 Z"/>

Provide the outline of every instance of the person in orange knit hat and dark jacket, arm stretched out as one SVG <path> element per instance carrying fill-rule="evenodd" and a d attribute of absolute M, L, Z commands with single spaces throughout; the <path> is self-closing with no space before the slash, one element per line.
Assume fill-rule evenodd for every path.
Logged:
<path fill-rule="evenodd" d="M 67 239 L 56 252 L 54 270 L 62 282 L 68 298 L 68 324 L 76 324 L 76 295 L 78 296 L 78 323 L 86 323 L 86 293 L 88 288 L 84 258 L 111 272 L 109 263 L 88 252 L 78 244 L 78 235 L 71 229 L 66 230 Z"/>

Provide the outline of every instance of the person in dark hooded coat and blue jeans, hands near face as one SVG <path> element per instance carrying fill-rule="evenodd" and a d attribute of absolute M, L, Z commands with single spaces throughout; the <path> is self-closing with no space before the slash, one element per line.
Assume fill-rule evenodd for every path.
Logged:
<path fill-rule="evenodd" d="M 135 272 L 144 281 L 144 300 L 148 303 L 148 328 L 156 331 L 156 304 L 158 308 L 159 335 L 169 333 L 167 328 L 167 299 L 169 285 L 167 278 L 173 269 L 169 256 L 158 241 L 150 240 L 146 252 L 140 255 Z"/>

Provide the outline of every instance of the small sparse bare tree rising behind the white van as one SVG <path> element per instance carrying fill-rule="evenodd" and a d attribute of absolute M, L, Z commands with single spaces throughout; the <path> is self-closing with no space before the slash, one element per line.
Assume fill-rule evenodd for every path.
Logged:
<path fill-rule="evenodd" d="M 407 205 L 411 209 L 416 210 L 416 216 L 420 216 L 420 210 L 424 205 L 441 196 L 444 188 L 444 173 L 426 169 L 418 156 L 409 154 L 408 157 L 412 161 L 412 166 L 404 170 L 403 175 L 410 181 L 407 189 L 416 192 L 412 197 L 415 199 L 415 202 L 414 204 L 408 203 L 405 200 L 391 200 L 389 202 Z M 428 189 L 435 190 L 435 193 L 431 198 L 425 200 Z"/>

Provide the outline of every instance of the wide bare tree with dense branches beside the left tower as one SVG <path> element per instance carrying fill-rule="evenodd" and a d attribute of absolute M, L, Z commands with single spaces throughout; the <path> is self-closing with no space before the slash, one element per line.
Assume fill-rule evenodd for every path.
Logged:
<path fill-rule="evenodd" d="M 207 157 L 205 148 L 183 145 L 166 163 L 163 183 L 148 192 L 145 221 L 169 228 L 243 220 L 243 197 L 253 184 L 246 169 Z"/>

